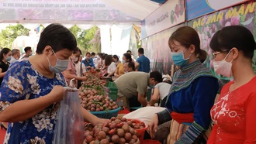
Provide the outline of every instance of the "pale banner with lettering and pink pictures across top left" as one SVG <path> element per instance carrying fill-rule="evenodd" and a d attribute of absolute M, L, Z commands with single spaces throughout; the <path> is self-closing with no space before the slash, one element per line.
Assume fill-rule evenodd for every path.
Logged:
<path fill-rule="evenodd" d="M 100 0 L 0 0 L 0 20 L 137 21 Z"/>

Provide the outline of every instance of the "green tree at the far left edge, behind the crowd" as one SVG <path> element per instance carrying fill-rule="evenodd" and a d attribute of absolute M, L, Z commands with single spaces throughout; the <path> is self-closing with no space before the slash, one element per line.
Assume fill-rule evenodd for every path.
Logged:
<path fill-rule="evenodd" d="M 13 41 L 18 36 L 29 36 L 29 31 L 29 29 L 26 29 L 21 24 L 7 26 L 6 29 L 2 29 L 0 33 L 0 46 L 12 48 Z"/>

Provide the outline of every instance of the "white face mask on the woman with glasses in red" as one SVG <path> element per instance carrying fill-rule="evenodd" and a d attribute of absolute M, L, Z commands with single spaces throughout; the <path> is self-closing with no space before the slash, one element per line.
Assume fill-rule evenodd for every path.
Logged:
<path fill-rule="evenodd" d="M 229 54 L 230 54 L 230 52 L 227 53 L 227 56 L 224 58 L 224 60 L 213 61 L 213 67 L 214 67 L 215 72 L 217 74 L 221 74 L 225 77 L 231 77 L 232 76 L 231 68 L 232 68 L 232 61 L 233 60 L 231 60 L 230 62 L 226 61 Z"/>

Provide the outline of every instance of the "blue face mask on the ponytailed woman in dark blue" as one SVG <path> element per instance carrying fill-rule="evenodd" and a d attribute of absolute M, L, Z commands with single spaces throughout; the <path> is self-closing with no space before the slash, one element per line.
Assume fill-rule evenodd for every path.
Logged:
<path fill-rule="evenodd" d="M 186 50 L 179 53 L 171 53 L 171 58 L 176 66 L 182 67 L 189 63 L 189 57 L 191 56 L 192 53 L 189 55 L 187 59 L 184 59 L 184 52 Z"/>

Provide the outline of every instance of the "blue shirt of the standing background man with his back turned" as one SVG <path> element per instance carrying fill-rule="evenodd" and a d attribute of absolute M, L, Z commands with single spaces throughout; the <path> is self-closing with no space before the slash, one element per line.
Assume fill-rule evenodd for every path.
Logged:
<path fill-rule="evenodd" d="M 145 72 L 145 73 L 150 72 L 150 60 L 147 57 L 142 55 L 136 61 L 137 61 L 137 63 L 140 64 L 140 66 L 137 68 L 137 70 Z"/>

